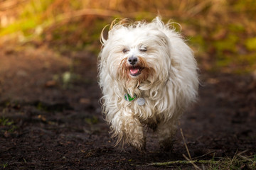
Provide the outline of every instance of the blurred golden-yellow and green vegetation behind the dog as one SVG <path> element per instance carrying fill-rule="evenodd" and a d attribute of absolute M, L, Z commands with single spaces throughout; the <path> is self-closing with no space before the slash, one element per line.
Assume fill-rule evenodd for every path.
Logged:
<path fill-rule="evenodd" d="M 151 21 L 158 13 L 181 24 L 177 30 L 201 69 L 255 72 L 254 0 L 1 0 L 0 47 L 47 45 L 60 53 L 86 50 L 97 56 L 100 32 L 114 18 Z"/>

